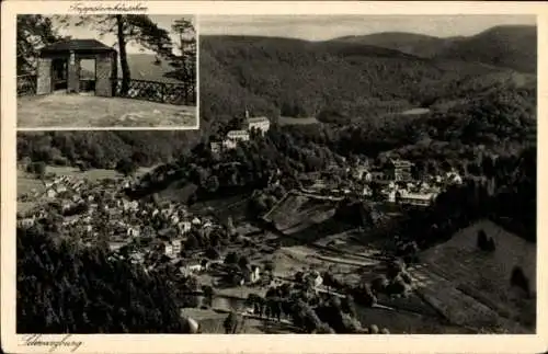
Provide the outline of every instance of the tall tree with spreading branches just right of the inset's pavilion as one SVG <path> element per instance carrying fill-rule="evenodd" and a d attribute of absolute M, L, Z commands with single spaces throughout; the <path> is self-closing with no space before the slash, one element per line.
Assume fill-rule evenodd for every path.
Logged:
<path fill-rule="evenodd" d="M 66 25 L 91 26 L 105 34 L 114 34 L 117 39 L 119 64 L 122 68 L 122 93 L 129 90 L 132 72 L 127 61 L 126 45 L 136 43 L 145 49 L 152 50 L 162 57 L 172 56 L 172 43 L 169 32 L 158 26 L 148 15 L 144 14 L 109 14 L 83 15 L 76 23 L 69 16 L 61 16 Z"/>

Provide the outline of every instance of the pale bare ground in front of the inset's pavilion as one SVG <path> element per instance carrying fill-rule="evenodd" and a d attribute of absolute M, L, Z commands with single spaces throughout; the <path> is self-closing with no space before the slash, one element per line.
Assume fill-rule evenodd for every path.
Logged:
<path fill-rule="evenodd" d="M 190 127 L 196 107 L 93 95 L 48 94 L 18 98 L 19 128 Z"/>

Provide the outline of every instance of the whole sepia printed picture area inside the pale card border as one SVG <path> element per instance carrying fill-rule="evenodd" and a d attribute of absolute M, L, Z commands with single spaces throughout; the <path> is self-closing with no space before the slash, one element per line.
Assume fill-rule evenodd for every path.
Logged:
<path fill-rule="evenodd" d="M 165 119 L 180 19 L 19 16 L 19 127 Z M 18 333 L 535 334 L 536 21 L 199 15 L 199 129 L 18 132 Z"/>

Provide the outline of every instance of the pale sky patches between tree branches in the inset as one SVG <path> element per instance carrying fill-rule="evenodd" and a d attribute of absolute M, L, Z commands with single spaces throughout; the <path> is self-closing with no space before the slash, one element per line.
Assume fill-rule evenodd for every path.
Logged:
<path fill-rule="evenodd" d="M 78 16 L 75 18 L 75 21 L 78 21 Z M 159 27 L 162 27 L 167 31 L 170 32 L 171 41 L 174 43 L 178 42 L 178 37 L 172 33 L 171 31 L 171 25 L 175 20 L 179 19 L 186 19 L 186 20 L 192 20 L 194 22 L 194 16 L 192 15 L 149 15 L 149 18 L 155 21 Z M 94 38 L 98 39 L 102 43 L 104 43 L 107 46 L 112 46 L 116 43 L 116 37 L 113 34 L 107 34 L 104 35 L 103 37 L 100 36 L 100 33 L 92 28 L 92 26 L 61 26 L 60 22 L 57 19 L 53 19 L 54 25 L 58 28 L 59 34 L 61 35 L 70 35 L 75 39 L 90 39 Z M 126 49 L 128 54 L 138 54 L 138 53 L 148 53 L 151 54 L 149 50 L 141 52 L 141 47 L 139 45 L 136 45 L 134 43 L 129 43 L 126 45 Z"/>

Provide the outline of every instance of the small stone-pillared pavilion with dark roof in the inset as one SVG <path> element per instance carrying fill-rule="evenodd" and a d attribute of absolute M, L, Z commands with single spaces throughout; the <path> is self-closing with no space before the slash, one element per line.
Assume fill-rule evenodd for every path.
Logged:
<path fill-rule="evenodd" d="M 83 61 L 89 65 L 82 66 Z M 67 39 L 44 47 L 37 69 L 37 94 L 61 91 L 113 96 L 117 53 L 96 39 Z"/>

